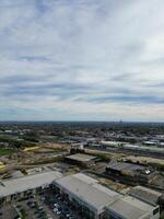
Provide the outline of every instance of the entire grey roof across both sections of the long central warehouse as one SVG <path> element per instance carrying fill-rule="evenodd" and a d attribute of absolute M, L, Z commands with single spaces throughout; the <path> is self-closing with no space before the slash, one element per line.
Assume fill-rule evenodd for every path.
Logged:
<path fill-rule="evenodd" d="M 58 178 L 54 183 L 97 214 L 106 208 L 121 218 L 143 219 L 147 216 L 149 218 L 150 214 L 159 207 L 145 204 L 132 196 L 120 195 L 82 173 Z"/>

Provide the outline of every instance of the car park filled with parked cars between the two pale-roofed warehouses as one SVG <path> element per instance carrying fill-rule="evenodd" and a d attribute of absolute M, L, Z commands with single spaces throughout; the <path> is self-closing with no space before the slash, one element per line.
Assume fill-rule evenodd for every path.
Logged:
<path fill-rule="evenodd" d="M 46 189 L 31 195 L 0 210 L 0 219 L 86 219 L 60 194 Z"/>

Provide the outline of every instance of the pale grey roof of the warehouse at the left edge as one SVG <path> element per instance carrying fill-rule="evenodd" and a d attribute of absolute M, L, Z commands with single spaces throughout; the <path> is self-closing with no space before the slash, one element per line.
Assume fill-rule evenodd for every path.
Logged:
<path fill-rule="evenodd" d="M 35 175 L 0 181 L 0 197 L 22 193 L 44 185 L 46 186 L 61 176 L 62 174 L 57 171 L 48 171 Z"/>

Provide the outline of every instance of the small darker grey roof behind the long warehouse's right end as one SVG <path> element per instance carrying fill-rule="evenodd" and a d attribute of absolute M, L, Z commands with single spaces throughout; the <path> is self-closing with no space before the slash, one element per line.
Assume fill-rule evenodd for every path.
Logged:
<path fill-rule="evenodd" d="M 157 200 L 162 196 L 162 193 L 143 186 L 136 186 L 131 188 L 130 195 L 150 204 L 157 204 Z"/>

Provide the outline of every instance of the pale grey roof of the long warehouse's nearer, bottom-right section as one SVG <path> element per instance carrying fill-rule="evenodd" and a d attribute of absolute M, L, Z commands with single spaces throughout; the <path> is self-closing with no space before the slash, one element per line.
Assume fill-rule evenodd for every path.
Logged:
<path fill-rule="evenodd" d="M 157 207 L 157 206 L 156 206 Z M 139 219 L 150 216 L 156 208 L 131 196 L 124 196 L 107 206 L 107 210 L 126 219 Z"/>

